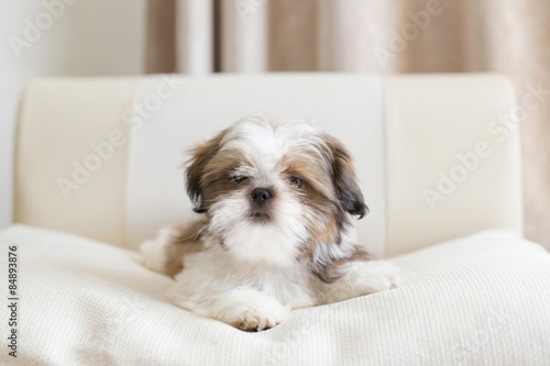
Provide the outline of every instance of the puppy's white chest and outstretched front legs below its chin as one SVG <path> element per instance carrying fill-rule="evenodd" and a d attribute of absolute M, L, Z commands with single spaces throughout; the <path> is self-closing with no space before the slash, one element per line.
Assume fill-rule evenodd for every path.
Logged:
<path fill-rule="evenodd" d="M 161 248 L 162 243 L 156 243 Z M 331 251 L 338 252 L 338 247 Z M 164 260 L 160 253 L 164 252 L 153 256 Z M 321 258 L 326 254 L 316 255 Z M 290 309 L 342 301 L 400 284 L 399 269 L 386 260 L 353 262 L 342 267 L 342 274 L 334 284 L 312 282 L 299 262 L 284 268 L 243 263 L 210 242 L 205 251 L 185 258 L 185 270 L 176 276 L 168 298 L 200 315 L 262 331 L 280 323 Z"/>

